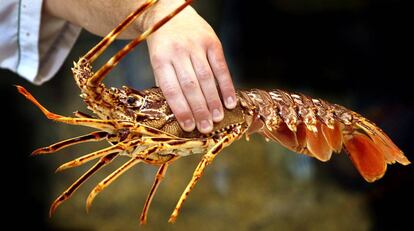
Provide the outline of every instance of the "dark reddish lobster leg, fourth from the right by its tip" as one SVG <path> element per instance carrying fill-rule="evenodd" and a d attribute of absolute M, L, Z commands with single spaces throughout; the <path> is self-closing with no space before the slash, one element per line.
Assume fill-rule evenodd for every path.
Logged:
<path fill-rule="evenodd" d="M 67 188 L 62 194 L 60 194 L 56 200 L 52 203 L 49 210 L 49 216 L 51 217 L 57 207 L 59 207 L 60 204 L 68 200 L 73 193 L 76 192 L 76 190 L 86 181 L 88 180 L 95 172 L 97 172 L 99 169 L 103 168 L 104 166 L 108 165 L 112 162 L 115 157 L 118 156 L 118 153 L 112 153 L 109 155 L 106 155 L 102 157 L 98 163 L 96 163 L 93 167 L 91 167 L 85 174 L 83 174 L 79 179 L 77 179 L 69 188 Z"/>

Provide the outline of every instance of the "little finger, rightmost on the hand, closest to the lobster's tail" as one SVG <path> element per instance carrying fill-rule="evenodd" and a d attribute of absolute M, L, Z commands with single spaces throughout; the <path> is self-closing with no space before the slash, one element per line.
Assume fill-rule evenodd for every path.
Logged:
<path fill-rule="evenodd" d="M 224 104 L 228 109 L 235 108 L 237 105 L 236 91 L 234 90 L 221 44 L 218 43 L 211 46 L 208 49 L 207 56 L 214 76 L 219 84 Z"/>

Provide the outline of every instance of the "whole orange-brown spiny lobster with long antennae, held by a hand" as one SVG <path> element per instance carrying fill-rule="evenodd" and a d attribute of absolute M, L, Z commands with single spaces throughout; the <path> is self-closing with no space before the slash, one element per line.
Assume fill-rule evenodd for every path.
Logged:
<path fill-rule="evenodd" d="M 356 169 L 368 182 L 381 178 L 387 164 L 410 163 L 403 152 L 374 123 L 340 105 L 302 94 L 282 90 L 238 91 L 237 107 L 225 110 L 223 121 L 216 123 L 213 132 L 205 135 L 198 131 L 183 131 L 158 88 L 143 91 L 129 87 L 106 88 L 102 83 L 106 74 L 136 45 L 177 15 L 191 1 L 183 3 L 170 15 L 132 40 L 97 72 L 93 72 L 91 63 L 135 18 L 156 2 L 148 0 L 74 63 L 72 71 L 81 89 L 81 97 L 98 118 L 81 112 L 75 113 L 77 118 L 52 113 L 27 90 L 17 86 L 18 91 L 39 107 L 47 118 L 100 130 L 39 148 L 33 155 L 53 153 L 74 144 L 90 141 L 107 140 L 111 144 L 57 169 L 61 171 L 99 158 L 93 167 L 53 202 L 50 215 L 95 172 L 116 157 L 126 155 L 130 158 L 129 161 L 102 180 L 89 194 L 86 201 L 87 209 L 100 191 L 132 166 L 140 162 L 157 165 L 160 167 L 140 218 L 142 224 L 146 223 L 148 208 L 169 164 L 183 156 L 204 154 L 169 219 L 169 222 L 175 222 L 184 201 L 203 175 L 205 167 L 223 148 L 244 134 L 248 138 L 252 133 L 260 133 L 266 139 L 279 142 L 292 151 L 321 161 L 328 161 L 332 152 L 340 152 L 344 147 Z"/>

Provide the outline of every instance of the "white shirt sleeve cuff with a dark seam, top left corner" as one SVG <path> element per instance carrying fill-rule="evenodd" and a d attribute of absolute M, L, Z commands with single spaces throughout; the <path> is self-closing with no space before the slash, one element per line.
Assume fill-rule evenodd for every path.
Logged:
<path fill-rule="evenodd" d="M 42 15 L 42 0 L 1 0 L 0 67 L 42 84 L 62 66 L 80 31 Z"/>

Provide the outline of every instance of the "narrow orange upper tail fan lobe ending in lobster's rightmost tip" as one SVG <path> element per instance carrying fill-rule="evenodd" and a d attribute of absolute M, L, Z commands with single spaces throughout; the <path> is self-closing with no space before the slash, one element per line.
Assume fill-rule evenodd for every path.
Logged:
<path fill-rule="evenodd" d="M 392 140 L 374 123 L 364 119 L 357 123 L 357 126 L 366 132 L 376 147 L 382 152 L 388 164 L 398 162 L 402 165 L 410 164 L 404 153 L 392 142 Z"/>

